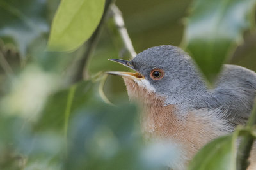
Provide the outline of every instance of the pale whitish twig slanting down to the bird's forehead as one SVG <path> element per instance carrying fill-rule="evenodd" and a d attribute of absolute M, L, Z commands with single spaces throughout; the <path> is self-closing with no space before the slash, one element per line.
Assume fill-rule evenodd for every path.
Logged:
<path fill-rule="evenodd" d="M 122 38 L 124 46 L 127 52 L 129 52 L 129 54 L 131 55 L 131 57 L 134 58 L 136 56 L 136 52 L 132 46 L 132 41 L 125 27 L 122 13 L 115 4 L 111 6 L 111 11 L 113 12 L 114 22 L 115 22 L 116 28 L 118 29 L 120 37 Z"/>

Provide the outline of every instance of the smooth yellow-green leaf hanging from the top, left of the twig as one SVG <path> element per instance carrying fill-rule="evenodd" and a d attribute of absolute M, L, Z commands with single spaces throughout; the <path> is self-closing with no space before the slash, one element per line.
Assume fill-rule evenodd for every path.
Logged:
<path fill-rule="evenodd" d="M 62 0 L 52 22 L 49 50 L 70 51 L 81 46 L 97 28 L 104 0 Z"/>

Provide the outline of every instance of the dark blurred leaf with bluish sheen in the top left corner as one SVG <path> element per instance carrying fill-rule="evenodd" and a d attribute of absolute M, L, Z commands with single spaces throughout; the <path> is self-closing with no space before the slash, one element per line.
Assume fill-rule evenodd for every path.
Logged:
<path fill-rule="evenodd" d="M 46 0 L 0 1 L 0 38 L 4 43 L 17 45 L 22 57 L 28 46 L 49 30 L 46 3 Z"/>

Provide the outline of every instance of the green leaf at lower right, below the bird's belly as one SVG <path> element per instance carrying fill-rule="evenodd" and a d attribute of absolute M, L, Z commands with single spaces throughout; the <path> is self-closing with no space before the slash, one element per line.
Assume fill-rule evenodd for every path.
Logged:
<path fill-rule="evenodd" d="M 239 131 L 207 143 L 189 164 L 189 170 L 233 170 L 236 168 L 236 139 Z"/>

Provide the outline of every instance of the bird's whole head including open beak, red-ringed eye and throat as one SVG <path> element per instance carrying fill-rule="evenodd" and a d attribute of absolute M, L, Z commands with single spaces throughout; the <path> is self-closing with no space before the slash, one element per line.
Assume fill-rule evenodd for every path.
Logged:
<path fill-rule="evenodd" d="M 191 57 L 175 46 L 148 48 L 131 61 L 109 60 L 135 71 L 108 72 L 124 78 L 130 99 L 140 99 L 146 104 L 186 103 L 205 90 Z"/>

